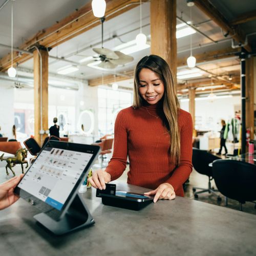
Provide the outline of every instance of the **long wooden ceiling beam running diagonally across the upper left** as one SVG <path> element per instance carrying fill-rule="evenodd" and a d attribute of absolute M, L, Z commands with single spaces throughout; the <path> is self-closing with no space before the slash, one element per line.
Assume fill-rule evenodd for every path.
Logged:
<path fill-rule="evenodd" d="M 142 0 L 142 2 L 147 2 L 147 0 Z M 140 2 L 138 0 L 106 0 L 106 20 L 129 11 L 130 9 L 137 7 L 139 4 Z M 93 15 L 92 5 L 90 2 L 70 14 L 68 17 L 63 18 L 55 25 L 47 29 L 40 30 L 28 39 L 25 44 L 18 48 L 21 50 L 30 50 L 34 45 L 53 48 L 98 25 L 100 25 L 100 19 Z M 18 55 L 17 52 L 14 52 L 13 63 L 22 63 L 32 57 L 33 56 L 26 53 Z M 6 71 L 9 67 L 11 67 L 10 54 L 0 59 L 0 71 Z"/>

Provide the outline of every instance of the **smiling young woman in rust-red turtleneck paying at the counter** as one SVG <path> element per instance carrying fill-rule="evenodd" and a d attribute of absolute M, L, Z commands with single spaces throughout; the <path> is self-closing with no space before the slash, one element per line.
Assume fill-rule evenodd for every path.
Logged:
<path fill-rule="evenodd" d="M 89 181 L 104 189 L 122 175 L 128 155 L 127 183 L 153 189 L 145 195 L 155 195 L 154 202 L 184 196 L 182 184 L 192 170 L 192 132 L 168 64 L 159 56 L 145 56 L 135 69 L 133 106 L 116 118 L 113 157 Z"/>

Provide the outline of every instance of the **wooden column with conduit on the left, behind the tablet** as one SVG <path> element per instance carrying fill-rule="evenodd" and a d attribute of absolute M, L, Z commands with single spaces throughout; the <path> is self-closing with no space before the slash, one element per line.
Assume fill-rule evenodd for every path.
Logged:
<path fill-rule="evenodd" d="M 34 51 L 34 116 L 35 139 L 42 143 L 48 127 L 48 52 L 46 49 Z M 41 63 L 41 64 L 40 64 Z M 40 70 L 41 65 L 41 70 Z M 42 102 L 42 104 L 41 104 Z M 42 122 L 42 123 L 41 123 Z M 40 130 L 44 134 L 40 134 Z"/>

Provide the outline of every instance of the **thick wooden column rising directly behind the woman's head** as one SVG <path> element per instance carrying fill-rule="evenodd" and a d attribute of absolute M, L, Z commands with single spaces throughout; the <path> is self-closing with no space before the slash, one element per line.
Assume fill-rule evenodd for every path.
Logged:
<path fill-rule="evenodd" d="M 151 0 L 151 53 L 166 60 L 177 84 L 176 0 Z"/>

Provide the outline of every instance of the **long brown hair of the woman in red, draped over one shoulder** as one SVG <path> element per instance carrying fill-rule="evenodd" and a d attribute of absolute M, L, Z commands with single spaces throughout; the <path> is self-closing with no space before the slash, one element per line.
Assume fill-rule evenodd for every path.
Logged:
<path fill-rule="evenodd" d="M 167 121 L 166 128 L 170 135 L 170 155 L 172 155 L 174 163 L 179 164 L 180 132 L 178 126 L 178 112 L 180 109 L 180 103 L 176 95 L 174 75 L 163 58 L 157 55 L 143 57 L 138 62 L 134 74 L 134 109 L 140 108 L 143 102 L 139 93 L 139 73 L 142 69 L 152 70 L 163 81 L 163 112 Z"/>

